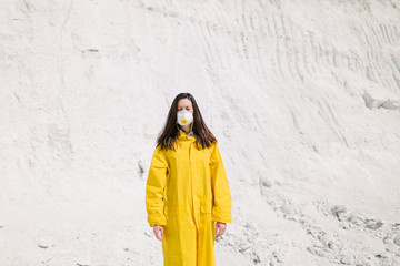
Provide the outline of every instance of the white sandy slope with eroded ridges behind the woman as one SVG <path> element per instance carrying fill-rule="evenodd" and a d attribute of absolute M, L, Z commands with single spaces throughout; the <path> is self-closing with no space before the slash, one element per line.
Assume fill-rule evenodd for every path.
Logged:
<path fill-rule="evenodd" d="M 180 92 L 231 187 L 217 265 L 400 265 L 400 2 L 3 0 L 0 21 L 0 265 L 162 265 L 144 186 Z"/>

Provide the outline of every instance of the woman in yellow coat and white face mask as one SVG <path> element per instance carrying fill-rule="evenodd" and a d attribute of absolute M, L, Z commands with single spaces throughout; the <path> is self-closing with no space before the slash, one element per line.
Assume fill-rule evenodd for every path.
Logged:
<path fill-rule="evenodd" d="M 176 96 L 157 140 L 146 208 L 164 266 L 216 265 L 214 237 L 232 223 L 231 194 L 217 140 L 190 93 Z"/>

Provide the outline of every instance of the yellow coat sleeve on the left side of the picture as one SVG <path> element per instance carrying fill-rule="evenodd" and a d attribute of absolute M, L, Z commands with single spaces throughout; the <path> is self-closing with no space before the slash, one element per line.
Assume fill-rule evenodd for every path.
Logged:
<path fill-rule="evenodd" d="M 166 152 L 160 150 L 160 146 L 157 146 L 146 183 L 146 209 L 150 227 L 154 225 L 167 225 L 163 208 L 164 191 L 169 172 Z"/>

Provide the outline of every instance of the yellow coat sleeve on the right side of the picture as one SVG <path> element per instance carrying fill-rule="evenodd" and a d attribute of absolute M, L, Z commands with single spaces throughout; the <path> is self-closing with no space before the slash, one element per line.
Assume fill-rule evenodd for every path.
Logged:
<path fill-rule="evenodd" d="M 228 177 L 217 143 L 211 145 L 210 171 L 213 197 L 211 217 L 217 222 L 232 223 L 232 200 Z"/>

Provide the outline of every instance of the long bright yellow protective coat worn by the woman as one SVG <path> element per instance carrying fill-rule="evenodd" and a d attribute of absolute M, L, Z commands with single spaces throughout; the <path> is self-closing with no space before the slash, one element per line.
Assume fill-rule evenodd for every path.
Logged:
<path fill-rule="evenodd" d="M 146 185 L 151 227 L 163 225 L 164 266 L 213 266 L 214 223 L 232 223 L 231 194 L 217 143 L 198 150 L 178 135 L 176 151 L 156 147 Z"/>

